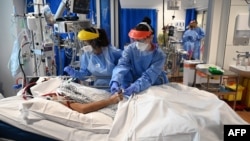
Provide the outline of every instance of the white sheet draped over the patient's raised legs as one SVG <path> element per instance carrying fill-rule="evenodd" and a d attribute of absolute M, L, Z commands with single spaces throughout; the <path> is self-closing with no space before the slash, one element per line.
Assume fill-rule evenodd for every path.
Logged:
<path fill-rule="evenodd" d="M 110 141 L 222 141 L 223 125 L 248 124 L 214 94 L 178 83 L 121 103 Z"/>

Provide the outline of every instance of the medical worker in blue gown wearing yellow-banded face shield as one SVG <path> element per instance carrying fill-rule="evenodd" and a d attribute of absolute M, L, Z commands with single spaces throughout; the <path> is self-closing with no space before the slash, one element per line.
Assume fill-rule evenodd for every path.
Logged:
<path fill-rule="evenodd" d="M 86 44 L 80 58 L 80 70 L 67 66 L 64 71 L 80 80 L 93 75 L 97 78 L 94 86 L 109 86 L 112 71 L 121 57 L 122 50 L 109 44 L 104 29 L 83 29 L 78 33 L 78 38 Z"/>

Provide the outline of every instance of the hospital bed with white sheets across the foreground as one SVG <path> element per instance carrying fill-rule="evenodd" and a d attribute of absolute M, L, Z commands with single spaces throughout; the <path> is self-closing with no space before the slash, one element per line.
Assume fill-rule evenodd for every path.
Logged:
<path fill-rule="evenodd" d="M 66 83 L 57 78 L 38 83 L 31 89 L 34 98 L 29 100 L 23 99 L 22 90 L 16 96 L 1 99 L 0 138 L 222 141 L 224 125 L 248 124 L 214 94 L 179 83 L 152 86 L 123 99 L 117 105 L 114 117 L 101 111 L 80 114 L 58 102 L 39 97 Z M 88 94 L 107 93 L 73 82 L 69 85 Z"/>

